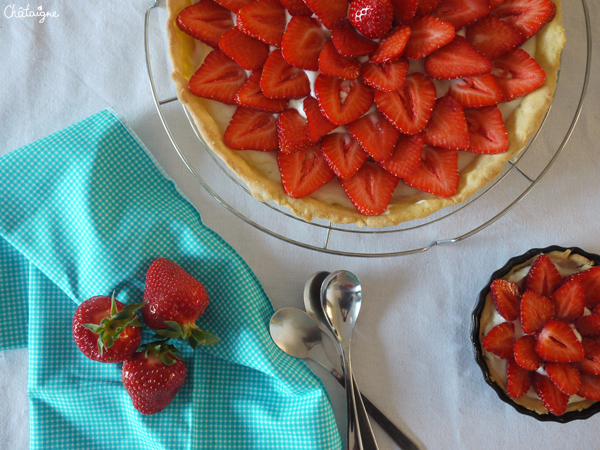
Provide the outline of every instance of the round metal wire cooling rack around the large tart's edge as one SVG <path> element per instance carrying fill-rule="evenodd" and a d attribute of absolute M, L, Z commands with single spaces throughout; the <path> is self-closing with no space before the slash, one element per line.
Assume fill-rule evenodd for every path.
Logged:
<path fill-rule="evenodd" d="M 581 114 L 590 78 L 592 38 L 586 1 L 562 2 L 567 44 L 552 107 L 526 148 L 506 164 L 500 176 L 459 205 L 396 227 L 373 229 L 320 220 L 308 222 L 272 202 L 254 199 L 205 144 L 188 111 L 173 94 L 170 67 L 165 62 L 165 22 L 151 24 L 152 11 L 159 11 L 159 16 L 163 9 L 159 3 L 155 0 L 146 11 L 146 65 L 158 115 L 177 155 L 199 185 L 239 219 L 289 244 L 328 254 L 373 258 L 421 253 L 465 240 L 502 218 L 538 184 L 567 144 Z M 151 35 L 153 44 L 161 49 L 157 52 L 158 62 L 151 57 Z"/>

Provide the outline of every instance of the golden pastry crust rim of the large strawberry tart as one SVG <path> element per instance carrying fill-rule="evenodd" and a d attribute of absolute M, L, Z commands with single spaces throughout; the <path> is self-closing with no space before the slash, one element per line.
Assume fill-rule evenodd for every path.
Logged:
<path fill-rule="evenodd" d="M 436 197 L 409 188 L 407 195 L 394 195 L 385 213 L 378 216 L 364 216 L 349 201 L 342 200 L 345 194 L 337 180 L 331 182 L 337 185 L 332 186 L 332 189 L 342 200 L 341 202 L 324 201 L 322 199 L 324 196 L 319 195 L 319 191 L 301 199 L 294 199 L 285 194 L 279 173 L 274 170 L 277 167 L 274 152 L 260 156 L 265 160 L 271 158 L 270 163 L 263 164 L 262 161 L 257 162 L 256 156 L 253 156 L 252 153 L 264 152 L 237 151 L 227 147 L 223 140 L 223 133 L 235 107 L 222 104 L 216 106 L 217 102 L 193 95 L 187 86 L 188 80 L 210 51 L 210 47 L 181 32 L 176 25 L 179 12 L 192 3 L 194 3 L 193 0 L 168 0 L 167 2 L 169 54 L 173 66 L 172 78 L 179 100 L 188 109 L 206 144 L 248 186 L 256 199 L 261 202 L 274 201 L 278 205 L 289 208 L 294 214 L 307 221 L 324 219 L 338 224 L 387 227 L 422 219 L 441 208 L 465 201 L 497 177 L 504 164 L 525 147 L 539 128 L 552 103 L 557 72 L 560 67 L 560 53 L 565 44 L 565 33 L 561 26 L 560 2 L 554 0 L 557 7 L 554 19 L 534 37 L 536 39 L 535 59 L 546 72 L 546 80 L 539 89 L 522 99 L 506 121 L 509 137 L 508 150 L 500 155 L 475 156 L 473 161 L 460 171 L 459 187 L 452 197 Z M 257 166 L 261 166 L 263 170 Z M 268 169 L 265 170 L 265 167 Z M 329 198 L 334 197 L 329 196 Z"/>

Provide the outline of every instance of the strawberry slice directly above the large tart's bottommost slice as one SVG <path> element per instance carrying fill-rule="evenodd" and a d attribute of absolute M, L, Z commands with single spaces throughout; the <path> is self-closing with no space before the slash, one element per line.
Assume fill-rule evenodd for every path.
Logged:
<path fill-rule="evenodd" d="M 348 132 L 377 162 L 392 156 L 400 136 L 398 129 L 377 110 L 348 124 Z"/>

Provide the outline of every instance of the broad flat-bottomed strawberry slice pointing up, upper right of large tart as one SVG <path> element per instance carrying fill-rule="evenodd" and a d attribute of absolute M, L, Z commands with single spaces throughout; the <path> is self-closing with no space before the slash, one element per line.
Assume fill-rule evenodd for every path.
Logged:
<path fill-rule="evenodd" d="M 460 35 L 433 52 L 425 61 L 425 73 L 437 80 L 483 75 L 492 71 L 492 62 Z"/>

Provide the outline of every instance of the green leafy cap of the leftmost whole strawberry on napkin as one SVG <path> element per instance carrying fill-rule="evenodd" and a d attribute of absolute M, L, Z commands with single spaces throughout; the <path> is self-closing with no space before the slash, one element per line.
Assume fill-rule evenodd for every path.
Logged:
<path fill-rule="evenodd" d="M 85 328 L 98 335 L 98 352 L 100 356 L 102 356 L 104 350 L 114 345 L 126 327 L 142 326 L 135 312 L 143 305 L 143 303 L 126 305 L 121 311 L 117 311 L 117 303 L 115 302 L 115 294 L 113 292 L 108 317 L 102 319 L 97 325 L 94 323 L 83 324 Z"/>

